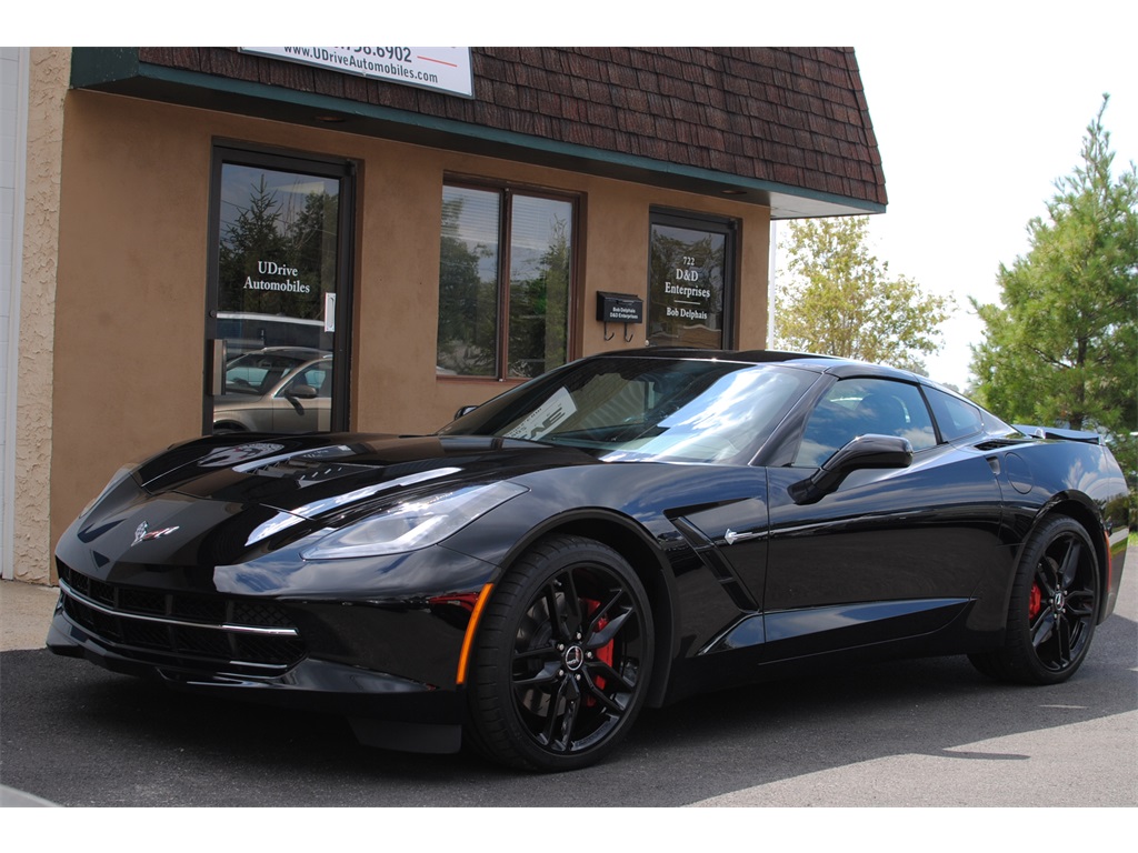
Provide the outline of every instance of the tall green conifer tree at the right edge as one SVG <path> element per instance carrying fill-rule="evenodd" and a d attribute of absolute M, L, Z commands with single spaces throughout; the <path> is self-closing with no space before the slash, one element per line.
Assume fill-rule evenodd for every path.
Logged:
<path fill-rule="evenodd" d="M 1000 266 L 1000 304 L 972 300 L 986 324 L 972 372 L 976 398 L 1007 419 L 1099 430 L 1127 447 L 1138 429 L 1138 172 L 1131 163 L 1112 176 L 1107 101 L 1047 217 L 1028 223 L 1028 254 Z"/>

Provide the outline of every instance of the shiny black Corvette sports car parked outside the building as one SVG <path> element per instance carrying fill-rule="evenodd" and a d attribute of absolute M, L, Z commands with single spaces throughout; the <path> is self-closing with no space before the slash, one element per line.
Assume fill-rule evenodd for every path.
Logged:
<path fill-rule="evenodd" d="M 566 770 L 644 705 L 815 662 L 1052 684 L 1113 611 L 1095 433 L 780 353 L 585 358 L 432 436 L 242 434 L 123 470 L 56 552 L 57 653 Z"/>

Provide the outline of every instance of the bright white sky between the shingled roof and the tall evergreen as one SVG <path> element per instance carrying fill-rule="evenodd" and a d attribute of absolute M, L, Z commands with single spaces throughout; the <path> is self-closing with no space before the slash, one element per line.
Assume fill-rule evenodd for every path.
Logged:
<path fill-rule="evenodd" d="M 1028 252 L 1028 222 L 1082 163 L 1104 92 L 1114 174 L 1138 162 L 1138 3 L 1121 8 L 1096 15 L 1094 42 L 1054 20 L 1023 38 L 853 45 L 889 193 L 871 246 L 891 274 L 957 303 L 926 359 L 937 381 L 967 387 L 968 347 L 983 338 L 967 298 L 998 300 L 999 265 Z"/>

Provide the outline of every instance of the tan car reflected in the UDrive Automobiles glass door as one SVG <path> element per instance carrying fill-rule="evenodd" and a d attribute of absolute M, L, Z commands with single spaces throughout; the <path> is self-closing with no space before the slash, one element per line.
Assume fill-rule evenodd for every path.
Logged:
<path fill-rule="evenodd" d="M 332 356 L 307 347 L 267 347 L 225 365 L 213 431 L 311 432 L 331 423 Z"/>

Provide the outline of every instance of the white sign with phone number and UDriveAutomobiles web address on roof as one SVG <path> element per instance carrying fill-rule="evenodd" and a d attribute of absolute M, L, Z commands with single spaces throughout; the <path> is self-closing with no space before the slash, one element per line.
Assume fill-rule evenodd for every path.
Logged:
<path fill-rule="evenodd" d="M 241 48 L 289 63 L 475 97 L 470 48 Z"/>

